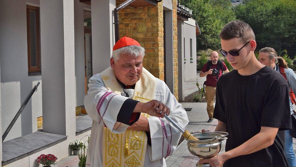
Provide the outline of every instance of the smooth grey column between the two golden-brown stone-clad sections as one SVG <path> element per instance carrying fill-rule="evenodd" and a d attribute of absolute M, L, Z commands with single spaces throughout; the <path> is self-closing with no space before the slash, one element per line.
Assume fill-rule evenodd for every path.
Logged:
<path fill-rule="evenodd" d="M 163 11 L 165 17 L 165 71 L 166 85 L 174 94 L 174 52 L 173 52 L 173 11 Z"/>

